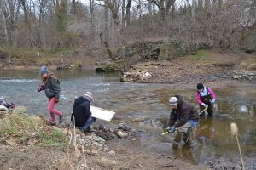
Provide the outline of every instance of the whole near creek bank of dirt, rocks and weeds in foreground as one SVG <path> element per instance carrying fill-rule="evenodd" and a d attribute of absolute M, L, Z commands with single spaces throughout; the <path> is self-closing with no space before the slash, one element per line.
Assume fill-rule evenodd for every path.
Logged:
<path fill-rule="evenodd" d="M 26 114 L 26 107 L 16 107 L 13 111 L 1 111 L 0 127 L 5 127 L 3 120 L 6 117 L 17 117 Z M 137 130 L 120 123 L 116 128 L 109 128 L 102 123 L 92 127 L 91 133 L 82 133 L 67 123 L 49 126 L 49 122 L 43 116 L 30 117 L 36 123 L 42 125 L 43 131 L 30 133 L 26 127 L 29 122 L 17 122 L 20 125 L 18 133 L 26 133 L 27 138 L 23 143 L 16 139 L 15 133 L 3 131 L 0 140 L 2 169 L 207 169 L 203 165 L 191 165 L 189 162 L 178 160 L 172 156 L 161 156 L 139 149 L 134 142 L 139 139 Z M 31 121 L 32 121 L 31 120 Z M 42 122 L 42 124 L 41 124 Z M 11 126 L 11 125 L 9 125 Z M 15 128 L 13 128 L 15 129 Z M 26 132 L 23 132 L 26 129 Z M 64 133 L 66 139 L 59 141 L 61 145 L 41 145 L 40 132 L 58 129 L 60 135 Z M 32 140 L 33 139 L 33 140 Z M 65 144 L 66 143 L 66 144 Z M 158 161 L 155 161 L 155 160 Z M 154 162 L 154 163 L 152 163 Z"/>

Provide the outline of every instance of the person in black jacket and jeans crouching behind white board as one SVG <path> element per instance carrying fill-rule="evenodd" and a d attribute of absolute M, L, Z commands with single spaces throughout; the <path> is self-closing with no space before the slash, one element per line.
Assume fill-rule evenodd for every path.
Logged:
<path fill-rule="evenodd" d="M 75 127 L 82 127 L 84 133 L 90 133 L 90 125 L 96 122 L 96 118 L 91 117 L 90 102 L 92 101 L 92 94 L 86 92 L 84 96 L 74 100 L 73 114 L 71 122 Z"/>

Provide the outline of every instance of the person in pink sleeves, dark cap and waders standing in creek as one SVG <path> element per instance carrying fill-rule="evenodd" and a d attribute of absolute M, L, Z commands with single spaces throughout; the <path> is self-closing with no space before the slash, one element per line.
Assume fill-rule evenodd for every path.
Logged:
<path fill-rule="evenodd" d="M 208 116 L 213 116 L 215 94 L 211 88 L 204 86 L 201 82 L 198 83 L 197 91 L 195 92 L 195 99 L 200 106 L 200 112 L 207 108 Z M 201 116 L 205 116 L 205 111 L 201 113 Z"/>

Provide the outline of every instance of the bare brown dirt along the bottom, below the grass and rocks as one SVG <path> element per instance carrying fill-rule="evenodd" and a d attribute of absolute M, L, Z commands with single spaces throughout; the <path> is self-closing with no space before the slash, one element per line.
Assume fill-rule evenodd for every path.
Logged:
<path fill-rule="evenodd" d="M 124 145 L 123 139 L 110 141 L 114 155 L 104 150 L 85 149 L 84 156 L 76 157 L 74 150 L 42 146 L 0 145 L 1 169 L 208 169 L 203 165 L 191 165 L 172 156 L 156 155 L 147 150 L 136 150 Z M 85 158 L 83 160 L 83 158 Z"/>

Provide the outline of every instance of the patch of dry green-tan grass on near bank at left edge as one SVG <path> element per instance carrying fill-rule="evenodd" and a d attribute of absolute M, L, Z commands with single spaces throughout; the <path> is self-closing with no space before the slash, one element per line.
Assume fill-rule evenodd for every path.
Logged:
<path fill-rule="evenodd" d="M 1 141 L 12 144 L 66 145 L 67 135 L 58 127 L 50 127 L 39 116 L 7 114 L 0 120 Z M 34 141 L 34 142 L 32 142 Z"/>

